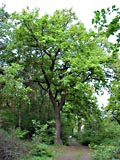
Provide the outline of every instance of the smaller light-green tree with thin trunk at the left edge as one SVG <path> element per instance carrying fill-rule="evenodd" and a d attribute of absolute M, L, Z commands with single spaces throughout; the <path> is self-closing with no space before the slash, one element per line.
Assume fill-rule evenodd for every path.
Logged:
<path fill-rule="evenodd" d="M 13 112 L 13 117 L 18 117 L 17 126 L 21 129 L 22 124 L 22 108 L 29 104 L 27 93 L 31 91 L 29 87 L 25 87 L 23 79 L 19 77 L 18 72 L 22 67 L 18 64 L 12 64 L 3 68 L 3 75 L 0 76 L 0 82 L 4 83 L 2 89 L 2 102 L 3 106 L 7 106 Z M 9 81 L 8 81 L 9 79 Z"/>

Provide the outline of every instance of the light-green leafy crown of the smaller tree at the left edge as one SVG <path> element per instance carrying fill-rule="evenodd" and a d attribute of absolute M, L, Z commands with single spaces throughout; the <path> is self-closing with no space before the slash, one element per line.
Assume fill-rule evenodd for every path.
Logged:
<path fill-rule="evenodd" d="M 5 66 L 3 70 L 4 74 L 0 75 L 0 82 L 5 83 L 2 90 L 3 101 L 12 99 L 15 105 L 20 103 L 20 101 L 22 103 L 29 103 L 27 93 L 30 92 L 31 89 L 30 87 L 26 88 L 23 85 L 23 79 L 19 77 L 19 72 L 23 70 L 23 67 L 19 64 L 12 63 L 11 66 Z"/>

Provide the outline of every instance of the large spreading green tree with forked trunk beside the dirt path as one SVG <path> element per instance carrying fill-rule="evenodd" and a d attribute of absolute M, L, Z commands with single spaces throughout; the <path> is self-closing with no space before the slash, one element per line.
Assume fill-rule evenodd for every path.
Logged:
<path fill-rule="evenodd" d="M 55 143 L 60 144 L 60 112 L 70 89 L 79 92 L 91 82 L 93 88 L 101 87 L 106 55 L 98 36 L 87 32 L 71 9 L 42 17 L 39 10 L 26 9 L 12 15 L 12 26 L 2 58 L 6 64 L 16 62 L 24 67 L 20 73 L 24 85 L 36 83 L 49 95 L 56 122 Z"/>

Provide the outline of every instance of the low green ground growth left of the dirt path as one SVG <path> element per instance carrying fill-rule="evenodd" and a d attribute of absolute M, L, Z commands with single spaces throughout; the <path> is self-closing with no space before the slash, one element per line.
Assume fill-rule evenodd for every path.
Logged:
<path fill-rule="evenodd" d="M 27 141 L 24 143 L 24 148 L 25 153 L 19 160 L 54 160 L 67 152 L 66 147 L 63 145 L 36 144 Z M 41 155 L 39 148 L 42 148 L 41 152 L 43 155 Z M 51 153 L 52 156 L 49 156 L 49 153 Z"/>

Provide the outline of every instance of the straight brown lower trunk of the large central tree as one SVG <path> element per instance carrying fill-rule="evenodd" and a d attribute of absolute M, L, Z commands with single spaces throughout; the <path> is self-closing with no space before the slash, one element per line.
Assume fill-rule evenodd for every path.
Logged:
<path fill-rule="evenodd" d="M 60 111 L 58 107 L 55 107 L 55 144 L 61 144 L 61 120 L 60 120 Z"/>

